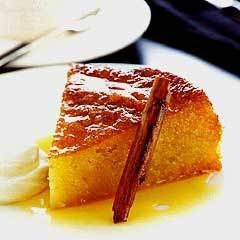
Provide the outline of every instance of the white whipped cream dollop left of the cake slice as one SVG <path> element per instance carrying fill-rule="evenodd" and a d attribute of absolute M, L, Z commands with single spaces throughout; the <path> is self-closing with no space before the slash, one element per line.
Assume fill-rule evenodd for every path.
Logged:
<path fill-rule="evenodd" d="M 26 200 L 48 187 L 48 161 L 36 144 L 0 145 L 0 204 Z"/>

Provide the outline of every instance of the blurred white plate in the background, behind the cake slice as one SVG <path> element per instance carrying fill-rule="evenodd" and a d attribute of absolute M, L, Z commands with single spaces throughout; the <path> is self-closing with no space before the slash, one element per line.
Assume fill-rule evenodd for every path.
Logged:
<path fill-rule="evenodd" d="M 51 40 L 10 66 L 89 61 L 128 46 L 147 29 L 151 13 L 144 0 L 101 2 L 97 22 L 88 31 Z"/>

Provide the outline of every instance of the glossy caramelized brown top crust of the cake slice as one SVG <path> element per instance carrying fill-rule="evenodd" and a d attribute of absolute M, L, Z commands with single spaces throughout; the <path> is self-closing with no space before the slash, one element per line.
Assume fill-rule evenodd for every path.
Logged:
<path fill-rule="evenodd" d="M 170 79 L 167 114 L 202 98 L 202 90 L 186 80 L 157 69 L 118 70 L 76 65 L 68 72 L 50 155 L 71 153 L 138 124 L 156 76 Z"/>

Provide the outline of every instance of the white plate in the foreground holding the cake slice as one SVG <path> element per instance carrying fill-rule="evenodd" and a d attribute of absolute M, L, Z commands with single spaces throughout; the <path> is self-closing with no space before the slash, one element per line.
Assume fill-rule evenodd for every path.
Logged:
<path fill-rule="evenodd" d="M 55 66 L 0 75 L 0 137 L 3 141 L 10 141 L 11 136 L 37 138 L 51 131 L 66 81 L 66 69 L 67 66 Z M 168 69 L 171 66 L 165 67 Z M 41 218 L 41 213 L 29 217 L 13 207 L 0 207 L 1 236 L 4 239 L 24 235 L 24 239 L 71 240 L 239 239 L 240 82 L 213 68 L 194 69 L 189 64 L 188 69 L 192 69 L 189 80 L 207 92 L 224 125 L 224 187 L 215 199 L 168 220 L 77 229 L 53 226 L 49 219 Z M 183 70 L 184 75 L 188 69 Z"/>

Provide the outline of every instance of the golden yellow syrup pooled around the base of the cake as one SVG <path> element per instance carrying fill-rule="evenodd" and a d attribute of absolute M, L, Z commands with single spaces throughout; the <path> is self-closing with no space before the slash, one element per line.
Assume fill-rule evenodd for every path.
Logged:
<path fill-rule="evenodd" d="M 40 139 L 41 149 L 48 151 L 52 137 Z M 162 184 L 154 188 L 137 192 L 134 205 L 126 224 L 144 223 L 163 220 L 166 217 L 188 211 L 201 203 L 215 197 L 221 185 L 211 183 L 213 174 L 205 174 L 174 183 Z M 49 208 L 49 191 L 34 198 L 15 204 L 29 212 L 39 221 L 66 226 L 113 226 L 113 199 L 102 200 L 78 207 L 51 210 Z"/>

